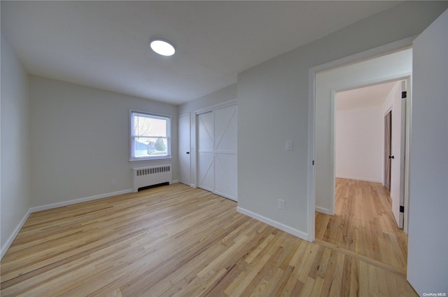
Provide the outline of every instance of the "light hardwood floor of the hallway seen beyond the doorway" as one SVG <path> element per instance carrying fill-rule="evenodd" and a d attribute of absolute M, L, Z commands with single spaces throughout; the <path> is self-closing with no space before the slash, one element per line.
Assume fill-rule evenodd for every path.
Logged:
<path fill-rule="evenodd" d="M 316 242 L 353 251 L 406 275 L 407 235 L 395 222 L 384 186 L 336 179 L 335 205 L 335 216 L 316 212 Z"/>

